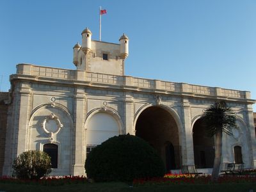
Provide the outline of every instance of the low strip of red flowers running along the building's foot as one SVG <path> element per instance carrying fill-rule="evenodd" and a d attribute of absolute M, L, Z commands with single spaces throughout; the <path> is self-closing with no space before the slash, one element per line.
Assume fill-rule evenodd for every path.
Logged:
<path fill-rule="evenodd" d="M 45 177 L 40 180 L 21 180 L 13 177 L 0 177 L 0 183 L 63 186 L 66 184 L 86 184 L 88 183 L 88 179 L 84 176 Z M 256 183 L 256 177 L 252 175 L 221 175 L 217 183 Z M 132 182 L 133 186 L 175 184 L 212 184 L 212 181 L 210 175 L 168 173 L 161 178 L 134 179 Z"/>

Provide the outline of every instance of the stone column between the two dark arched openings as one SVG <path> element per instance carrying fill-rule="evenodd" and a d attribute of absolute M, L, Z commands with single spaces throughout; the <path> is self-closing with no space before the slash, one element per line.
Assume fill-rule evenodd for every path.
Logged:
<path fill-rule="evenodd" d="M 191 165 L 195 164 L 194 162 L 194 148 L 193 148 L 193 135 L 191 131 L 191 109 L 188 99 L 183 99 L 183 121 L 184 121 L 184 146 L 182 150 L 186 153 L 183 153 L 182 164 Z"/>

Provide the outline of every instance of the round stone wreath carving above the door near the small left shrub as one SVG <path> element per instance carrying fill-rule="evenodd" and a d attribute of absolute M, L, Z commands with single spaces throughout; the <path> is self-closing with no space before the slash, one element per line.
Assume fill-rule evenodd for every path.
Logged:
<path fill-rule="evenodd" d="M 51 125 L 51 126 L 47 126 Z M 45 116 L 44 121 L 41 124 L 42 129 L 45 133 L 49 136 L 49 141 L 52 143 L 56 141 L 56 135 L 60 132 L 63 124 L 61 124 L 60 119 L 58 116 L 51 113 L 49 116 Z"/>

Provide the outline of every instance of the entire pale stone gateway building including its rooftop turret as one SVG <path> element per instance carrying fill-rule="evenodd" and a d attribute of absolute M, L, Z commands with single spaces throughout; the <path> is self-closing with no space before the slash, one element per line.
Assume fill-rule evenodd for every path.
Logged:
<path fill-rule="evenodd" d="M 92 40 L 82 32 L 74 46 L 77 70 L 21 63 L 0 93 L 0 172 L 26 150 L 51 156 L 52 175 L 84 175 L 93 147 L 118 134 L 132 134 L 154 147 L 166 170 L 193 166 L 209 173 L 214 138 L 207 138 L 200 116 L 216 100 L 237 113 L 232 136 L 223 135 L 222 164 L 256 168 L 256 140 L 250 92 L 141 79 L 124 75 L 129 39 L 120 44 Z"/>

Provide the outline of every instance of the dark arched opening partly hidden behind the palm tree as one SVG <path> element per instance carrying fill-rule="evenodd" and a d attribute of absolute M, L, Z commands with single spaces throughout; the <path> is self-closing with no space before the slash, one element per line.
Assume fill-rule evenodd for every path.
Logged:
<path fill-rule="evenodd" d="M 196 168 L 212 168 L 214 163 L 214 138 L 209 138 L 198 119 L 193 126 L 193 147 Z"/>

